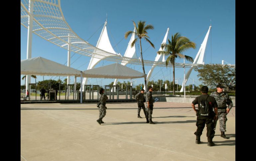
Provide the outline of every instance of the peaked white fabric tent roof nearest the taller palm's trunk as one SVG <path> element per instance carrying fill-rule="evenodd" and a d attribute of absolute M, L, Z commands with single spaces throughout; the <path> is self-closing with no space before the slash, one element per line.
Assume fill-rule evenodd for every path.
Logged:
<path fill-rule="evenodd" d="M 114 63 L 94 69 L 88 69 L 83 71 L 83 75 L 89 78 L 117 78 L 117 79 L 130 79 L 130 78 L 142 78 L 147 75 L 131 68 L 128 68 L 119 63 Z"/>

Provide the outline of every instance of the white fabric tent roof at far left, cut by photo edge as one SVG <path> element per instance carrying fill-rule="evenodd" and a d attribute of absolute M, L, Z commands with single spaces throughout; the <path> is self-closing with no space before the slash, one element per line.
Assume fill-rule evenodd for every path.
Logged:
<path fill-rule="evenodd" d="M 55 76 L 81 76 L 81 71 L 67 67 L 63 64 L 48 60 L 43 57 L 35 57 L 21 60 L 21 74 L 24 75 L 55 75 Z"/>

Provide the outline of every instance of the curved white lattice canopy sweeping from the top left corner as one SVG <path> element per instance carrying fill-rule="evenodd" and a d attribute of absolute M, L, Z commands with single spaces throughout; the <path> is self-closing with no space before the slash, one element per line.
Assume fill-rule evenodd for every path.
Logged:
<path fill-rule="evenodd" d="M 33 19 L 34 34 L 62 48 L 67 50 L 70 48 L 72 52 L 98 59 L 141 65 L 141 60 L 138 58 L 99 49 L 80 38 L 65 21 L 60 0 L 21 0 L 21 25 L 26 28 L 29 26 L 29 16 Z M 144 65 L 166 67 L 163 61 L 144 60 Z M 201 64 L 175 63 L 175 65 L 182 67 Z"/>

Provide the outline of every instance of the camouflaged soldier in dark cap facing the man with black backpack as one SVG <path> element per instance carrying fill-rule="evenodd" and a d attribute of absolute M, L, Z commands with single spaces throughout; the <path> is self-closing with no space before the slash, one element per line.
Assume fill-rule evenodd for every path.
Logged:
<path fill-rule="evenodd" d="M 231 98 L 228 96 L 227 93 L 223 92 L 222 84 L 218 84 L 216 86 L 217 91 L 212 92 L 210 96 L 213 96 L 218 104 L 218 120 L 219 120 L 219 130 L 221 132 L 221 137 L 225 139 L 229 139 L 225 135 L 226 131 L 226 121 L 227 121 L 227 114 L 229 113 L 230 109 L 233 107 L 233 103 Z M 228 105 L 228 107 L 227 107 Z M 216 128 L 217 120 L 214 122 L 214 129 Z"/>

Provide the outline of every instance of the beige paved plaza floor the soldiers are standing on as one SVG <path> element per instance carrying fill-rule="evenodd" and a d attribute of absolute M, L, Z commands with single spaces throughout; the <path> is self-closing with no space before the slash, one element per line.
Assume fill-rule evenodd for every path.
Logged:
<path fill-rule="evenodd" d="M 207 146 L 206 127 L 195 144 L 191 103 L 156 102 L 146 123 L 137 103 L 107 103 L 99 125 L 96 104 L 21 104 L 21 161 L 234 161 L 235 107 L 227 115 L 226 136 L 219 123 Z M 196 105 L 197 107 L 197 105 Z"/>

